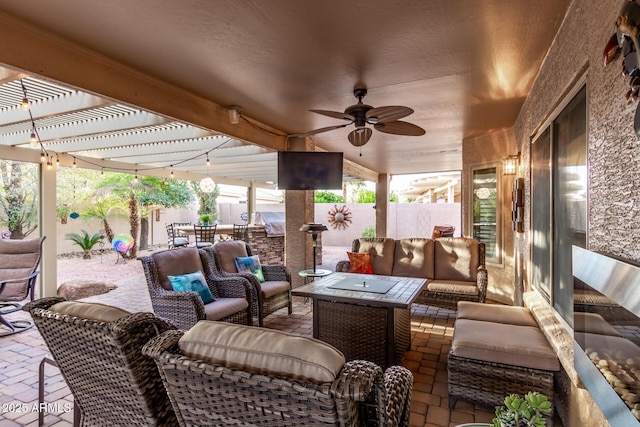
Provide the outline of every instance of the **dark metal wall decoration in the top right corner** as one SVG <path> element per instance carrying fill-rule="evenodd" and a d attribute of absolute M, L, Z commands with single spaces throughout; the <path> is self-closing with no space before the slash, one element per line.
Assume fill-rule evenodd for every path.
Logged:
<path fill-rule="evenodd" d="M 622 53 L 622 75 L 628 78 L 629 89 L 625 97 L 630 102 L 638 100 L 640 92 L 640 5 L 636 0 L 625 0 L 616 19 L 616 32 L 609 38 L 604 52 L 604 65 L 608 65 Z M 640 136 L 640 107 L 636 107 L 633 123 Z"/>

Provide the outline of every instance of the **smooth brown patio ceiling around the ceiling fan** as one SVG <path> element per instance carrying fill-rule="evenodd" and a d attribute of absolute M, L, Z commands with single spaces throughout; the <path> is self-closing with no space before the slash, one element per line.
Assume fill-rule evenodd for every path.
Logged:
<path fill-rule="evenodd" d="M 513 125 L 569 4 L 0 0 L 0 11 L 286 133 L 339 124 L 308 110 L 343 111 L 365 85 L 367 104 L 413 108 L 404 120 L 426 134 L 374 131 L 362 156 L 351 127 L 316 143 L 403 174 L 460 169 L 464 138 Z"/>

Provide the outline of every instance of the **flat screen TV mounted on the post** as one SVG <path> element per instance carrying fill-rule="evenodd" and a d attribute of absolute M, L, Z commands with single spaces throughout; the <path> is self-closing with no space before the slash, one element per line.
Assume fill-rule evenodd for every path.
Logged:
<path fill-rule="evenodd" d="M 278 151 L 278 189 L 339 190 L 342 153 Z"/>

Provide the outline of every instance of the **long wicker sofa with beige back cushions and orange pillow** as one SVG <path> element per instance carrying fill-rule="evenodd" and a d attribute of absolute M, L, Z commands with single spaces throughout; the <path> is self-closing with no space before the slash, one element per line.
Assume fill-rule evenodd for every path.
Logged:
<path fill-rule="evenodd" d="M 429 279 L 417 303 L 455 310 L 458 301 L 486 300 L 485 246 L 475 239 L 363 237 L 353 241 L 352 252 L 368 253 L 374 274 Z M 350 268 L 349 261 L 336 265 L 336 271 Z"/>

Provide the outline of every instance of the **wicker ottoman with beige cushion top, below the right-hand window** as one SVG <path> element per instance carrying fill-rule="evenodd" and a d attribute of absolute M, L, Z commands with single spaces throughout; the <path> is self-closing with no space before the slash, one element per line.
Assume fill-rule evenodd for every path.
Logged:
<path fill-rule="evenodd" d="M 528 309 L 460 304 L 448 359 L 450 408 L 457 399 L 499 406 L 505 396 L 529 391 L 544 394 L 553 405 L 560 363 Z"/>

